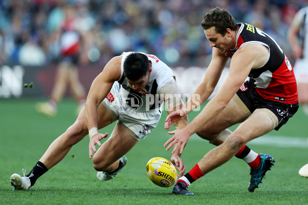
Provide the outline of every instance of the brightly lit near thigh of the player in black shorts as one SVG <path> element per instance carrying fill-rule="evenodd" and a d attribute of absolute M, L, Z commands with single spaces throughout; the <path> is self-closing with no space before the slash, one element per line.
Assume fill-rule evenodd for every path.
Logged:
<path fill-rule="evenodd" d="M 256 109 L 229 136 L 229 139 L 246 144 L 246 142 L 272 131 L 277 125 L 278 118 L 272 111 L 266 108 Z"/>

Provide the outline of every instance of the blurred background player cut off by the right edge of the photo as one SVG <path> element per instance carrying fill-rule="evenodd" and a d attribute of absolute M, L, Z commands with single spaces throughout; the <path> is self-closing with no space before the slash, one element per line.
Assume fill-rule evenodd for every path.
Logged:
<path fill-rule="evenodd" d="M 297 81 L 298 102 L 308 115 L 308 7 L 300 9 L 288 29 L 287 37 L 296 59 L 294 72 Z"/>

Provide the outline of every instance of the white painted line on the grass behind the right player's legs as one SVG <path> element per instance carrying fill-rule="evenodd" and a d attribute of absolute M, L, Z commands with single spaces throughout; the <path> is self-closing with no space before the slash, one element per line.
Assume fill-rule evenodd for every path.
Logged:
<path fill-rule="evenodd" d="M 198 135 L 192 135 L 193 140 L 204 140 Z M 290 136 L 272 136 L 264 135 L 249 141 L 247 144 L 253 145 L 269 145 L 274 147 L 285 148 L 308 148 L 308 138 L 304 137 L 290 137 Z"/>

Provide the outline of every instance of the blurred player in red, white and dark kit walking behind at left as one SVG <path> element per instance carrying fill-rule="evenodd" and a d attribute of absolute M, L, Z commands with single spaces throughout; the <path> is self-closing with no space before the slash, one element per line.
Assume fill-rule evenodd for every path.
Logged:
<path fill-rule="evenodd" d="M 57 105 L 64 96 L 67 87 L 78 101 L 76 113 L 84 107 L 86 92 L 79 79 L 78 65 L 80 61 L 87 63 L 86 53 L 88 51 L 87 39 L 83 37 L 83 31 L 78 26 L 79 18 L 76 9 L 70 5 L 64 8 L 64 18 L 55 36 L 59 39 L 60 53 L 59 65 L 55 72 L 54 86 L 48 103 L 37 103 L 36 111 L 48 116 L 54 116 Z M 83 47 L 83 52 L 81 52 Z"/>

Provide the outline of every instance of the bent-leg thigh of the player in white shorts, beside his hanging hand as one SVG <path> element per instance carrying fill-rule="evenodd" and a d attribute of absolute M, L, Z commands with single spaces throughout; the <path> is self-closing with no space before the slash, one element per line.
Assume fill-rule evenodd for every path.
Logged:
<path fill-rule="evenodd" d="M 110 137 L 102 144 L 93 156 L 93 163 L 102 163 L 103 167 L 110 166 L 125 155 L 137 144 L 134 139 L 119 123 L 117 123 Z"/>

